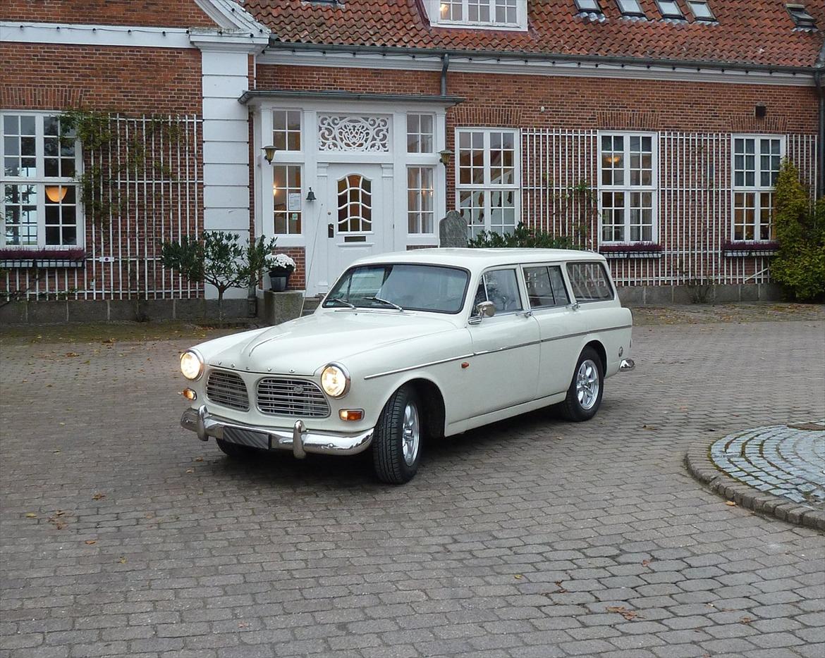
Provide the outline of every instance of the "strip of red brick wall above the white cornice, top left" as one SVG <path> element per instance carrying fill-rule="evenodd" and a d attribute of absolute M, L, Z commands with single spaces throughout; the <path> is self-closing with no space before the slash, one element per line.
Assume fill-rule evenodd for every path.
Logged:
<path fill-rule="evenodd" d="M 2 0 L 0 21 L 214 27 L 192 0 Z"/>

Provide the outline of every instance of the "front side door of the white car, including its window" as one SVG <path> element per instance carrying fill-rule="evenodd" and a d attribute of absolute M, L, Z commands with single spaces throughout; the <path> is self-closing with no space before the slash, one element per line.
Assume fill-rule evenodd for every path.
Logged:
<path fill-rule="evenodd" d="M 539 374 L 539 325 L 526 311 L 520 272 L 516 266 L 483 273 L 475 305 L 490 301 L 493 317 L 470 317 L 473 341 L 470 362 L 468 417 L 530 402 Z"/>

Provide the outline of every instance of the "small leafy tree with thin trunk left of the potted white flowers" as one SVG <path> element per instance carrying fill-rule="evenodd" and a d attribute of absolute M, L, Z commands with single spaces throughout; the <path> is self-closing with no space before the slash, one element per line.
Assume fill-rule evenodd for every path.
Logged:
<path fill-rule="evenodd" d="M 260 276 L 263 258 L 275 247 L 261 237 L 242 247 L 238 233 L 209 231 L 200 240 L 182 237 L 181 242 L 163 242 L 161 262 L 193 283 L 203 281 L 218 289 L 218 314 L 224 319 L 224 293 L 230 288 L 246 288 Z M 253 279 L 252 277 L 255 277 Z"/>

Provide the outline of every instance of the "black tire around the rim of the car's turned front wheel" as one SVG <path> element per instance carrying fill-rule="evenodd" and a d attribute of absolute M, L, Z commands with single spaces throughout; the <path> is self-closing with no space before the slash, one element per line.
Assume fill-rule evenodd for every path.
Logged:
<path fill-rule="evenodd" d="M 409 440 L 405 442 L 404 439 L 408 407 L 412 407 L 417 421 L 417 441 L 414 447 Z M 375 475 L 381 482 L 403 484 L 415 477 L 421 460 L 423 420 L 421 401 L 415 389 L 410 386 L 399 388 L 384 405 L 372 437 L 372 463 Z"/>

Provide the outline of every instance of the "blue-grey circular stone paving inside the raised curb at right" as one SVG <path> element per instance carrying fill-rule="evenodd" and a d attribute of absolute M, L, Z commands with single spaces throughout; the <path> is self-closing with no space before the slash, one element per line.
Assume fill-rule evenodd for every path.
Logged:
<path fill-rule="evenodd" d="M 759 491 L 825 510 L 825 421 L 728 435 L 711 444 L 710 459 Z"/>

